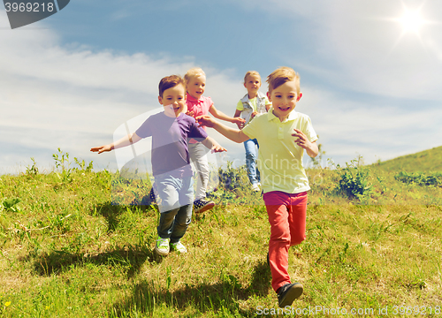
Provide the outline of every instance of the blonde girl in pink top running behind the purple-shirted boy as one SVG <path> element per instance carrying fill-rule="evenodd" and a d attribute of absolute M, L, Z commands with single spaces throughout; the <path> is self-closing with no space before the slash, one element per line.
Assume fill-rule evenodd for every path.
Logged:
<path fill-rule="evenodd" d="M 213 105 L 210 97 L 202 96 L 206 89 L 206 74 L 199 67 L 194 67 L 187 71 L 184 76 L 187 88 L 187 115 L 198 117 L 212 114 L 218 119 L 222 119 L 237 125 L 244 123 L 243 118 L 229 117 Z M 202 125 L 206 130 L 206 127 Z M 215 206 L 215 202 L 206 200 L 206 190 L 209 183 L 209 161 L 207 150 L 199 140 L 189 141 L 189 155 L 198 173 L 195 190 L 194 212 L 201 213 Z"/>

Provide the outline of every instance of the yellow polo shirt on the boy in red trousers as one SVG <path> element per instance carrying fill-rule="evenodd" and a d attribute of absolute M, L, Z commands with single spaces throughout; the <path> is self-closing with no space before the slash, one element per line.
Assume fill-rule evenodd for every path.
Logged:
<path fill-rule="evenodd" d="M 304 149 L 294 143 L 293 129 L 299 129 L 313 142 L 317 135 L 309 116 L 293 110 L 289 117 L 280 122 L 269 112 L 255 117 L 242 132 L 259 143 L 258 168 L 261 172 L 263 192 L 282 191 L 301 193 L 310 189 L 309 179 L 302 167 Z"/>

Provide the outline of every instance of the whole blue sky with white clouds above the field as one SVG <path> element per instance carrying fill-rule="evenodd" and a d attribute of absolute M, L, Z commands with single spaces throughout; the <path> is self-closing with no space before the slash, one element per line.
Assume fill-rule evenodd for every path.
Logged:
<path fill-rule="evenodd" d="M 415 31 L 400 22 L 406 10 L 419 11 Z M 265 79 L 293 67 L 303 93 L 296 110 L 311 117 L 335 163 L 438 147 L 441 13 L 436 1 L 75 0 L 11 30 L 1 7 L 0 174 L 24 170 L 30 157 L 49 170 L 57 148 L 115 169 L 114 154 L 89 149 L 155 110 L 159 79 L 193 66 L 229 115 L 246 72 Z M 210 135 L 226 160 L 243 159 L 242 145 Z"/>

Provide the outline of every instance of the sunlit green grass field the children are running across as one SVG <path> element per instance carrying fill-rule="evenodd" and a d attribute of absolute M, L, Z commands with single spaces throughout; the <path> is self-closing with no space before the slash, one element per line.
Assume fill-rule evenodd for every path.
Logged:
<path fill-rule="evenodd" d="M 132 205 L 148 181 L 93 172 L 78 160 L 72 168 L 60 150 L 54 159 L 60 165 L 49 174 L 34 163 L 0 177 L 0 316 L 255 317 L 264 309 L 287 316 L 271 289 L 270 226 L 259 194 L 221 185 L 213 196 L 223 204 L 194 215 L 183 238 L 188 254 L 162 258 L 153 252 L 156 208 Z M 409 316 L 424 307 L 442 316 L 435 312 L 441 188 L 384 168 L 308 170 L 307 239 L 289 253 L 289 273 L 304 285 L 293 316 L 308 308 L 303 316 L 336 316 L 336 308 Z M 225 175 L 243 178 L 243 171 L 229 167 Z M 368 188 L 359 193 L 361 185 Z"/>

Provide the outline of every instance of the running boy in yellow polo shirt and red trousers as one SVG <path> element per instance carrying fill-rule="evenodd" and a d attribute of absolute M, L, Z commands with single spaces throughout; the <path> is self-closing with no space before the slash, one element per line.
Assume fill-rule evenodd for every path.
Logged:
<path fill-rule="evenodd" d="M 310 187 L 302 167 L 302 155 L 305 150 L 310 157 L 316 157 L 317 136 L 310 118 L 294 111 L 302 96 L 299 75 L 289 67 L 281 67 L 268 76 L 267 82 L 271 109 L 255 117 L 242 130 L 222 125 L 209 116 L 197 117 L 197 120 L 235 142 L 248 139 L 259 142 L 263 200 L 271 223 L 267 254 L 271 286 L 278 293 L 279 307 L 286 307 L 303 292 L 302 284 L 292 284 L 288 275 L 288 248 L 305 239 Z"/>

